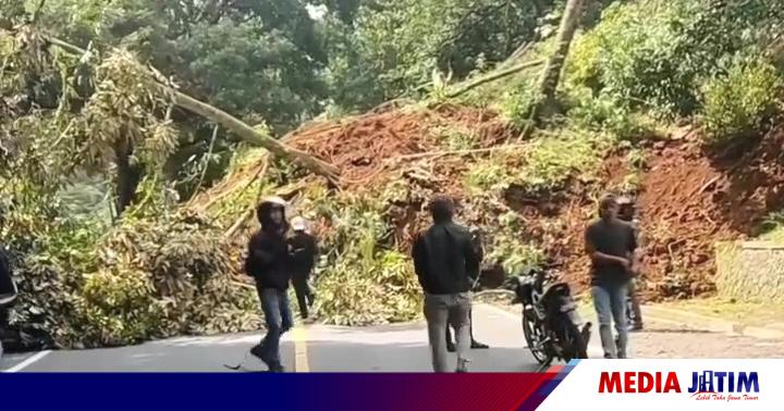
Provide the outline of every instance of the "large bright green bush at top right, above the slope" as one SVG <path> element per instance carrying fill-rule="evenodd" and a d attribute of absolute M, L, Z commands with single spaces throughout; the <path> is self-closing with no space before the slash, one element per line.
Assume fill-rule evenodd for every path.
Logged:
<path fill-rule="evenodd" d="M 775 27 L 775 7 L 767 0 L 615 2 L 575 40 L 567 84 L 657 116 L 690 115 L 699 108 L 700 79 Z"/>

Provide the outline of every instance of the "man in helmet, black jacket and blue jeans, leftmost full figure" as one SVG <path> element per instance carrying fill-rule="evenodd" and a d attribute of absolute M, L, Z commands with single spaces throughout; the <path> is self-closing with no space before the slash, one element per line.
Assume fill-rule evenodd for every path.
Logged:
<path fill-rule="evenodd" d="M 267 335 L 250 349 L 250 353 L 264 361 L 270 372 L 284 371 L 280 360 L 280 337 L 293 325 L 286 294 L 291 267 L 285 207 L 285 201 L 278 197 L 267 198 L 258 205 L 256 216 L 261 229 L 250 238 L 245 262 L 247 274 L 256 279 L 267 322 Z"/>

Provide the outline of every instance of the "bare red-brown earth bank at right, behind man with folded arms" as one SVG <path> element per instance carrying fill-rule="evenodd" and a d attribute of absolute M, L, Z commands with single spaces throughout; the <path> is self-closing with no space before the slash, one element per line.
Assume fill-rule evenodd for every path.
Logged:
<path fill-rule="evenodd" d="M 637 199 L 644 235 L 642 273 L 647 299 L 687 298 L 714 288 L 715 241 L 756 235 L 770 211 L 784 207 L 784 127 L 735 161 L 711 161 L 696 133 L 660 141 L 646 150 L 647 167 Z M 618 157 L 605 161 L 604 187 L 623 178 Z M 589 261 L 581 229 L 593 205 L 571 203 L 561 219 L 569 228 L 558 233 L 550 252 L 563 262 L 567 281 L 585 289 Z"/>

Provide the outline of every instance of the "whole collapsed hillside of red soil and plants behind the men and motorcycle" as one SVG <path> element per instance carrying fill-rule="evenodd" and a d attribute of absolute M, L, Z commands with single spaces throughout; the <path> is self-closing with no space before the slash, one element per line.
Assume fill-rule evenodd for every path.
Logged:
<path fill-rule="evenodd" d="M 575 135 L 568 129 L 505 144 L 514 136 L 513 129 L 488 110 L 409 105 L 313 124 L 286 137 L 289 144 L 341 166 L 346 178 L 341 190 L 330 190 L 315 177 L 285 184 L 260 177 L 262 191 L 285 192 L 293 201 L 293 212 L 314 220 L 324 241 L 327 257 L 317 286 L 334 301 L 322 301 L 322 319 L 353 324 L 418 314 L 413 300 L 415 277 L 405 256 L 415 233 L 428 224 L 424 205 L 436 192 L 454 196 L 460 202 L 460 220 L 481 227 L 488 249 L 486 286 L 498 286 L 504 274 L 525 264 L 549 262 L 584 290 L 588 260 L 583 252 L 583 229 L 595 217 L 596 199 L 607 190 L 629 192 L 628 182 L 636 180 L 632 192 L 639 198 L 646 236 L 647 299 L 712 291 L 713 241 L 754 235 L 771 210 L 784 205 L 784 171 L 777 165 L 784 138 L 781 128 L 734 161 L 711 160 L 701 148 L 699 132 L 689 128 L 644 141 L 639 149 L 621 148 L 623 145 L 608 142 L 602 136 Z M 559 152 L 542 162 L 553 144 L 587 160 L 561 164 L 565 155 Z M 244 163 L 258 169 L 266 161 L 262 155 L 258 163 L 250 158 Z M 543 164 L 553 167 L 550 173 L 555 175 L 531 173 L 531 167 Z M 489 165 L 497 169 L 490 173 L 492 184 L 477 187 L 478 171 L 486 172 Z M 225 185 L 245 189 L 254 175 L 237 172 L 217 190 Z M 292 191 L 292 186 L 297 188 Z M 200 201 L 216 196 L 232 198 L 208 192 Z M 253 207 L 256 198 L 246 198 L 248 202 L 240 209 Z M 235 223 L 233 217 L 228 221 Z M 377 226 L 368 228 L 369 221 Z M 243 226 L 244 235 L 234 238 L 237 246 L 256 223 L 246 219 Z M 368 229 L 370 251 L 365 258 L 380 265 L 346 264 L 363 247 L 359 242 Z M 381 261 L 389 252 L 397 257 L 392 262 Z M 408 278 L 384 278 L 380 272 L 388 263 Z M 351 273 L 338 273 L 336 267 Z M 345 306 L 348 291 L 330 289 L 330 279 L 336 275 L 364 278 L 383 292 L 399 294 L 381 292 L 378 301 Z M 387 281 L 400 284 L 385 287 L 382 283 Z M 405 313 L 372 315 L 376 307 L 384 311 L 381 307 L 390 300 L 407 301 Z M 344 311 L 339 313 L 339 308 Z"/>

